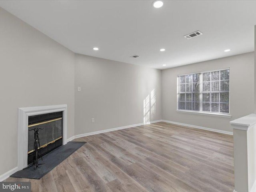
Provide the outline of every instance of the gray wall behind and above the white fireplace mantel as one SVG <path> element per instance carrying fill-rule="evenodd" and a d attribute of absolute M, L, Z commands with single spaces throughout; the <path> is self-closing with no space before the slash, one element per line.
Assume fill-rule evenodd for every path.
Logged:
<path fill-rule="evenodd" d="M 74 53 L 0 8 L 0 175 L 17 166 L 18 108 L 68 105 L 74 135 Z"/>

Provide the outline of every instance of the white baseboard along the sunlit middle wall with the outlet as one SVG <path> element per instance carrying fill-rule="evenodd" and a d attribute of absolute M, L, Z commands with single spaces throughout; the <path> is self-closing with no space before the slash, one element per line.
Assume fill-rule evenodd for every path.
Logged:
<path fill-rule="evenodd" d="M 139 123 L 139 124 L 133 124 L 133 125 L 127 125 L 127 126 L 122 126 L 122 127 L 116 127 L 116 128 L 111 128 L 111 129 L 106 129 L 106 130 L 101 130 L 101 131 L 94 131 L 94 132 L 90 132 L 90 133 L 79 134 L 79 135 L 75 135 L 75 136 L 72 136 L 72 137 L 68 138 L 67 141 L 70 142 L 73 139 L 80 138 L 80 137 L 86 137 L 86 136 L 90 136 L 90 135 L 96 135 L 96 134 L 100 134 L 100 133 L 106 133 L 106 132 L 111 132 L 111 131 L 116 131 L 116 130 L 120 130 L 120 129 L 131 128 L 131 127 L 136 127 L 136 126 L 142 126 L 142 125 L 157 123 L 157 122 L 161 122 L 161 121 L 162 120 L 156 120 L 156 121 L 150 121 L 150 122 L 146 122 L 146 123 Z"/>

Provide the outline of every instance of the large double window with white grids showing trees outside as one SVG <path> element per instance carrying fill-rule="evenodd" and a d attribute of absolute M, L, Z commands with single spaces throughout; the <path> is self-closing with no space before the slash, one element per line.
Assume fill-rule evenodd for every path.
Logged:
<path fill-rule="evenodd" d="M 178 76 L 178 110 L 229 114 L 229 69 Z"/>

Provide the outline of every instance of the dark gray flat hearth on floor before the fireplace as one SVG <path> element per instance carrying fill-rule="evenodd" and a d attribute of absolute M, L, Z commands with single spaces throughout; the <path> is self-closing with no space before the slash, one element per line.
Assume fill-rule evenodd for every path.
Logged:
<path fill-rule="evenodd" d="M 54 167 L 68 158 L 72 153 L 82 147 L 86 142 L 68 142 L 66 145 L 62 145 L 52 152 L 43 156 L 43 161 L 38 160 L 38 163 L 45 163 L 39 165 L 37 170 L 34 170 L 34 166 L 24 168 L 10 177 L 29 178 L 29 179 L 40 179 L 42 176 L 50 172 Z"/>

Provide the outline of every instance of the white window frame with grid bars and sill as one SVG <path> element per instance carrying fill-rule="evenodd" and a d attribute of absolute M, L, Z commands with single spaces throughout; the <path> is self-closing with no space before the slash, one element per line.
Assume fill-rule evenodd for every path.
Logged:
<path fill-rule="evenodd" d="M 210 112 L 210 111 L 202 111 L 202 100 L 203 100 L 203 73 L 207 73 L 207 72 L 214 72 L 214 71 L 222 71 L 222 70 L 229 70 L 229 112 L 228 113 L 225 113 L 225 112 Z M 195 110 L 181 110 L 179 109 L 179 102 L 180 102 L 180 76 L 186 76 L 186 75 L 192 75 L 192 74 L 200 74 L 200 77 L 199 77 L 199 101 L 200 101 L 200 111 L 195 111 Z M 219 82 L 221 81 L 220 78 L 218 80 Z M 211 82 L 211 79 L 210 79 L 210 82 Z M 210 92 L 211 91 L 211 83 L 210 83 Z M 219 85 L 220 86 L 220 85 Z M 218 93 L 222 92 L 222 91 L 216 91 Z M 225 92 L 225 91 L 223 91 Z M 188 92 L 188 93 L 193 93 L 193 92 Z M 220 94 L 219 94 L 219 101 L 220 101 Z M 193 104 L 193 101 L 192 101 L 192 104 Z M 211 107 L 211 102 L 210 102 L 210 107 Z M 219 105 L 220 107 L 220 105 Z M 188 74 L 180 74 L 177 76 L 177 112 L 182 112 L 182 113 L 190 113 L 190 114 L 200 114 L 200 115 L 209 115 L 209 116 L 222 116 L 222 117 L 227 117 L 227 118 L 230 118 L 231 115 L 230 115 L 230 68 L 224 68 L 224 69 L 218 69 L 218 70 L 210 70 L 210 71 L 202 71 L 202 72 L 194 72 L 194 73 L 188 73 Z"/>

